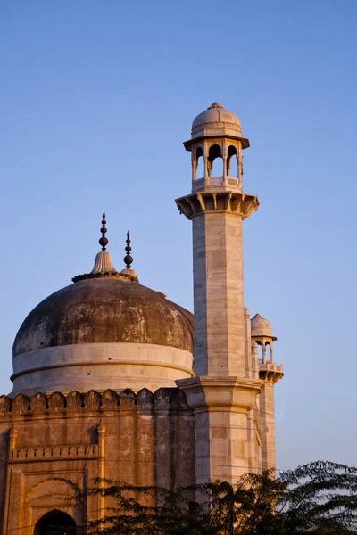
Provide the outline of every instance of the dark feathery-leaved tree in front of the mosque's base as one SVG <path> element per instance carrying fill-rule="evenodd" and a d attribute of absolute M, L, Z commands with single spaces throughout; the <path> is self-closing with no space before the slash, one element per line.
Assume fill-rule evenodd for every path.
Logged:
<path fill-rule="evenodd" d="M 97 480 L 89 494 L 113 506 L 86 533 L 102 535 L 357 534 L 357 468 L 329 462 L 299 466 L 275 478 L 245 474 L 167 490 Z"/>

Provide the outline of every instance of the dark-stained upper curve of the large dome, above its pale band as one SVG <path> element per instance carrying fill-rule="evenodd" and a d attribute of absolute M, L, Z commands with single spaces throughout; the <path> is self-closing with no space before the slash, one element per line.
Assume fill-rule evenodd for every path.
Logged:
<path fill-rule="evenodd" d="M 193 315 L 136 282 L 91 278 L 43 300 L 16 335 L 12 357 L 49 347 L 136 342 L 193 353 Z"/>

